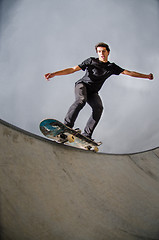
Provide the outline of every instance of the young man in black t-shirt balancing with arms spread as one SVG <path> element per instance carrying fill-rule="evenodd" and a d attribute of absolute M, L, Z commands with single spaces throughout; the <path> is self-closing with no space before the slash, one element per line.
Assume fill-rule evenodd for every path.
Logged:
<path fill-rule="evenodd" d="M 89 138 L 92 137 L 92 133 L 102 115 L 103 105 L 98 92 L 108 77 L 112 74 L 119 75 L 122 73 L 131 77 L 147 78 L 150 80 L 153 79 L 152 73 L 147 75 L 134 71 L 128 71 L 119 67 L 115 63 L 110 63 L 108 61 L 110 48 L 106 43 L 98 43 L 95 46 L 95 49 L 98 54 L 98 58 L 90 57 L 75 67 L 45 74 L 46 80 L 49 80 L 55 76 L 67 75 L 80 70 L 86 71 L 86 74 L 75 84 L 76 100 L 69 108 L 64 123 L 73 128 L 80 110 L 87 102 L 92 108 L 92 115 L 86 124 L 83 135 Z"/>

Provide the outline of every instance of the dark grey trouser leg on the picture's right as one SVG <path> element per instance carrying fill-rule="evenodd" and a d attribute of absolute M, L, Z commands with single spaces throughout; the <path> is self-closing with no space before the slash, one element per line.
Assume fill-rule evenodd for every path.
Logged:
<path fill-rule="evenodd" d="M 86 124 L 84 135 L 91 138 L 93 131 L 101 118 L 103 112 L 103 104 L 98 93 L 88 94 L 87 102 L 92 108 L 92 115 Z"/>

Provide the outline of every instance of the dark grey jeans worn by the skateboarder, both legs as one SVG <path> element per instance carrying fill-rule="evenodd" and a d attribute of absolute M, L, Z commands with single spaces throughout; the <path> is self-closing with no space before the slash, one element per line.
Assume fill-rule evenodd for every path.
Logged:
<path fill-rule="evenodd" d="M 78 83 L 75 86 L 75 102 L 69 108 L 64 123 L 72 128 L 80 110 L 85 106 L 86 102 L 92 108 L 92 115 L 86 124 L 84 135 L 91 137 L 102 115 L 103 105 L 98 93 L 90 93 L 83 83 Z"/>

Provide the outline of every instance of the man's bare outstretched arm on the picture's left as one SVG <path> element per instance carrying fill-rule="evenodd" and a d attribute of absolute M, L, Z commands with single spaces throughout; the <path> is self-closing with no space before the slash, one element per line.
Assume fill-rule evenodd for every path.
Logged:
<path fill-rule="evenodd" d="M 46 78 L 46 80 L 49 80 L 50 78 L 53 78 L 55 76 L 67 75 L 67 74 L 71 74 L 71 73 L 77 72 L 79 70 L 81 70 L 81 68 L 77 65 L 75 67 L 66 68 L 66 69 L 63 69 L 63 70 L 60 70 L 60 71 L 57 71 L 57 72 L 46 73 L 44 75 L 44 77 Z"/>

